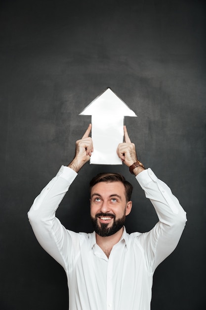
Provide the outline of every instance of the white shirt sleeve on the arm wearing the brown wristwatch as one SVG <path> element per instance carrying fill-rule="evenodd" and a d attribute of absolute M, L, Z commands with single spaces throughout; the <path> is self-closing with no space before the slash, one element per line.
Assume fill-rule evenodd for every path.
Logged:
<path fill-rule="evenodd" d="M 146 198 L 157 212 L 159 222 L 140 236 L 147 265 L 151 272 L 176 248 L 187 221 L 186 212 L 180 206 L 170 188 L 148 168 L 136 176 Z"/>

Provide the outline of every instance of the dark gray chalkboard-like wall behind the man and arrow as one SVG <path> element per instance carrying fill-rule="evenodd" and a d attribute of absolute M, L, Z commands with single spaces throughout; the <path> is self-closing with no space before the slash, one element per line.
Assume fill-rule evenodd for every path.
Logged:
<path fill-rule="evenodd" d="M 73 158 L 90 122 L 78 114 L 108 86 L 138 115 L 125 124 L 140 160 L 187 211 L 177 249 L 155 272 L 152 310 L 205 309 L 204 2 L 1 0 L 1 310 L 68 309 L 64 270 L 39 246 L 27 211 Z M 58 210 L 67 228 L 92 230 L 87 184 L 111 170 L 135 187 L 127 231 L 153 227 L 125 166 L 87 164 Z"/>

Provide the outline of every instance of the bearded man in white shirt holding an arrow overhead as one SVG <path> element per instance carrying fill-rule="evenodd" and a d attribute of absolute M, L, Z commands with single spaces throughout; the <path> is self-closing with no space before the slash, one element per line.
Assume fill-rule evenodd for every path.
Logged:
<path fill-rule="evenodd" d="M 131 185 L 119 174 L 99 174 L 90 183 L 93 233 L 67 230 L 55 211 L 78 171 L 93 152 L 88 126 L 76 142 L 76 155 L 35 199 L 28 216 L 46 252 L 65 269 L 70 310 L 149 310 L 156 267 L 175 249 L 186 213 L 167 185 L 138 161 L 124 126 L 124 143 L 117 153 L 136 176 L 156 209 L 159 222 L 146 233 L 127 234 Z"/>

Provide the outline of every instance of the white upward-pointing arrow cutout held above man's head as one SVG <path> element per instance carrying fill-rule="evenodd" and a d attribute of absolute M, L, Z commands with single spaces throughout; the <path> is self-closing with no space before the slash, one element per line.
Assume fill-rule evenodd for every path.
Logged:
<path fill-rule="evenodd" d="M 79 115 L 91 115 L 94 152 L 90 163 L 122 164 L 117 147 L 124 138 L 124 116 L 137 116 L 110 88 L 89 103 Z"/>

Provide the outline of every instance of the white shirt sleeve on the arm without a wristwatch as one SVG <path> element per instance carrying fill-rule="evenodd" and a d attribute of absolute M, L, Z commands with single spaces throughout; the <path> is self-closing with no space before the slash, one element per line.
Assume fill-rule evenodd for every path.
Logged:
<path fill-rule="evenodd" d="M 75 240 L 78 234 L 68 231 L 55 217 L 55 212 L 76 176 L 74 170 L 61 166 L 28 212 L 30 224 L 41 247 L 64 268 L 68 267 L 68 254 L 64 253 L 64 249 L 71 250 L 73 244 L 78 247 L 79 242 Z"/>

